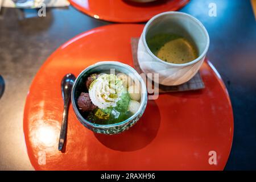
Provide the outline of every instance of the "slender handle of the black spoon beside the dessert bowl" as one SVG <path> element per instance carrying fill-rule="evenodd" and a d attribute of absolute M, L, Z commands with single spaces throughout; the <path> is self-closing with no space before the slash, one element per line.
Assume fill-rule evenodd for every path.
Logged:
<path fill-rule="evenodd" d="M 68 104 L 64 105 L 63 110 L 63 119 L 61 123 L 61 129 L 60 129 L 60 140 L 59 140 L 59 151 L 62 150 L 66 138 L 67 133 L 67 120 L 68 120 Z"/>

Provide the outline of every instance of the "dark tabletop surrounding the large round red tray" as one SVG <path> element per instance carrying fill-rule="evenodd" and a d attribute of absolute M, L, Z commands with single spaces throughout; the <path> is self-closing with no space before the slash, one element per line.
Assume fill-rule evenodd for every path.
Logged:
<path fill-rule="evenodd" d="M 208 15 L 216 3 L 217 16 Z M 234 139 L 225 169 L 256 169 L 256 23 L 250 1 L 192 0 L 180 11 L 203 22 L 210 36 L 208 58 L 224 80 L 234 113 Z M 110 22 L 74 9 L 47 9 L 46 17 L 18 19 L 18 11 L 0 14 L 0 75 L 6 82 L 0 99 L 0 170 L 34 169 L 27 156 L 23 109 L 31 81 L 61 44 L 81 32 Z"/>

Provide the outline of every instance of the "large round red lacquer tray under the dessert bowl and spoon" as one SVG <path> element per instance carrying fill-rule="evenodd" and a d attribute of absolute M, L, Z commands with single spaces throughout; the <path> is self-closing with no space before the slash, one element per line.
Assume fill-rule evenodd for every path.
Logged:
<path fill-rule="evenodd" d="M 205 89 L 160 94 L 130 130 L 118 135 L 94 134 L 70 107 L 67 145 L 58 151 L 63 100 L 60 81 L 76 76 L 97 61 L 133 65 L 131 37 L 141 24 L 95 28 L 69 40 L 43 64 L 32 82 L 24 109 L 24 135 L 36 170 L 215 170 L 224 169 L 233 139 L 229 96 L 217 71 L 205 61 L 200 69 Z M 217 164 L 209 164 L 209 151 Z"/>

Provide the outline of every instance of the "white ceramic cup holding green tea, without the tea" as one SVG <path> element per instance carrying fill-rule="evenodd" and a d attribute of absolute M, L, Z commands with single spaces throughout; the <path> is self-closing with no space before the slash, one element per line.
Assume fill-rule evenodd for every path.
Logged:
<path fill-rule="evenodd" d="M 156 57 L 147 46 L 147 38 L 157 34 L 176 34 L 193 42 L 199 57 L 184 64 L 173 64 Z M 138 44 L 138 62 L 144 73 L 159 73 L 162 85 L 180 85 L 190 80 L 203 64 L 209 48 L 209 35 L 195 17 L 181 12 L 168 11 L 151 18 L 144 27 Z"/>

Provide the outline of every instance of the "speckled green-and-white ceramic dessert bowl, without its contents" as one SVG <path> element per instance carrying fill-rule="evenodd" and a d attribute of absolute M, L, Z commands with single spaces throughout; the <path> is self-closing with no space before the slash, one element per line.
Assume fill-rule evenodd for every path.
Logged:
<path fill-rule="evenodd" d="M 77 105 L 77 99 L 79 98 L 79 94 L 81 93 L 81 86 L 84 85 L 86 77 L 95 72 L 108 72 L 110 69 L 114 69 L 116 72 L 132 75 L 133 78 L 139 81 L 141 85 L 141 101 L 139 109 L 136 111 L 136 113 L 131 115 L 131 117 L 127 118 L 125 121 L 109 125 L 100 125 L 97 123 L 90 122 L 82 116 L 81 111 L 79 110 L 79 106 Z M 84 69 L 84 71 L 82 71 L 80 75 L 76 78 L 72 88 L 71 102 L 76 117 L 82 123 L 82 125 L 84 125 L 85 127 L 87 127 L 88 129 L 92 130 L 95 133 L 109 135 L 118 134 L 135 125 L 139 118 L 142 117 L 142 114 L 144 113 L 144 110 L 146 109 L 147 105 L 147 89 L 142 77 L 139 76 L 139 74 L 137 73 L 137 71 L 135 71 L 134 68 L 130 67 L 127 64 L 119 63 L 118 61 L 101 61 L 96 64 L 90 65 L 89 67 Z"/>

